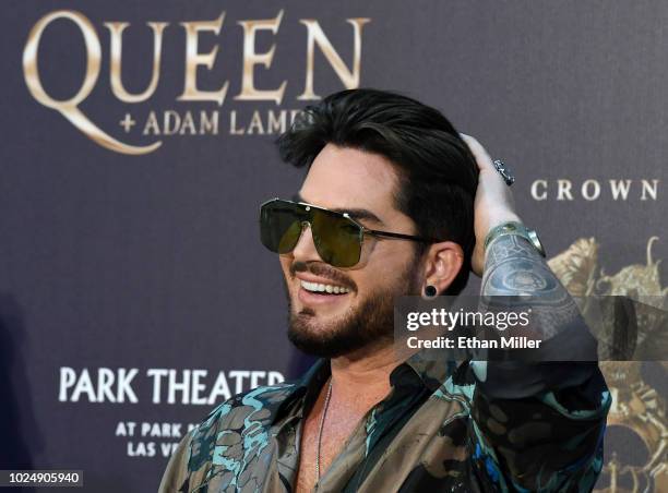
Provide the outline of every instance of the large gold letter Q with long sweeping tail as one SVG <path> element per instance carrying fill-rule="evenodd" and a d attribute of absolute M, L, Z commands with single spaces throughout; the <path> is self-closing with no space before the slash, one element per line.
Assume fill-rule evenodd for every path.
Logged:
<path fill-rule="evenodd" d="M 86 47 L 86 74 L 76 94 L 70 99 L 55 99 L 47 94 L 39 79 L 37 53 L 39 41 L 46 27 L 53 21 L 67 19 L 72 21 L 81 31 Z M 80 12 L 70 10 L 59 10 L 44 15 L 31 29 L 25 48 L 23 50 L 23 74 L 28 91 L 33 97 L 47 108 L 59 111 L 70 123 L 81 130 L 88 139 L 111 151 L 123 154 L 146 154 L 155 151 L 162 142 L 155 142 L 147 146 L 133 146 L 117 141 L 111 135 L 104 132 L 80 109 L 79 105 L 88 97 L 97 79 L 102 64 L 102 47 L 95 27 L 91 21 Z"/>

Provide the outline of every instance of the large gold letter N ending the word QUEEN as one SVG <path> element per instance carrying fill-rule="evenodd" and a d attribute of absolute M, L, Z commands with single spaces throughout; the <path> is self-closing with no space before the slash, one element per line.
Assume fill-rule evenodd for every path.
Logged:
<path fill-rule="evenodd" d="M 354 89 L 359 86 L 360 61 L 361 61 L 361 29 L 362 26 L 370 22 L 370 19 L 348 19 L 347 22 L 353 24 L 354 31 L 354 48 L 353 48 L 353 70 L 348 70 L 344 61 L 341 59 L 325 34 L 322 32 L 320 24 L 314 19 L 302 19 L 299 22 L 307 26 L 308 44 L 307 44 L 307 70 L 306 70 L 306 86 L 303 93 L 297 97 L 300 100 L 320 99 L 313 92 L 313 58 L 315 45 L 325 56 L 341 82 L 348 89 Z"/>

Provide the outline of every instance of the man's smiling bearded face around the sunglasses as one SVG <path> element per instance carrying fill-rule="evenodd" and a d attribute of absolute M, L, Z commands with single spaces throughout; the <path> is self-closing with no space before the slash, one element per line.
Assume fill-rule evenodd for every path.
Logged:
<path fill-rule="evenodd" d="M 415 235 L 413 220 L 394 205 L 397 187 L 398 177 L 386 158 L 329 144 L 314 159 L 299 200 L 348 212 L 370 229 Z M 307 228 L 295 250 L 281 255 L 281 266 L 290 305 L 289 338 L 322 357 L 386 344 L 393 332 L 394 298 L 419 292 L 411 241 L 366 235 L 360 262 L 336 268 L 320 258 Z M 333 292 L 318 291 L 318 285 L 331 286 Z"/>

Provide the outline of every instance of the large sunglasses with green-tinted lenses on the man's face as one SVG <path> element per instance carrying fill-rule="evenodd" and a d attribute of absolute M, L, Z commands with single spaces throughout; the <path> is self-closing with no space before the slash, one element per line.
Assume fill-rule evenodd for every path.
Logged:
<path fill-rule="evenodd" d="M 295 250 L 301 231 L 310 226 L 313 244 L 323 262 L 333 267 L 353 267 L 361 256 L 366 236 L 434 243 L 439 240 L 369 229 L 347 213 L 337 213 L 302 202 L 273 199 L 260 208 L 260 238 L 274 253 Z"/>

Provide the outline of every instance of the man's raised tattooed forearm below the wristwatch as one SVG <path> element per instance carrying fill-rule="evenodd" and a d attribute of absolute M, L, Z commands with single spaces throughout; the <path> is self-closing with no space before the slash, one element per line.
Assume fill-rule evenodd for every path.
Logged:
<path fill-rule="evenodd" d="M 532 310 L 532 327 L 549 339 L 581 315 L 577 305 L 550 270 L 545 258 L 524 238 L 499 237 L 488 246 L 482 276 L 482 297 L 527 296 L 514 309 Z M 508 300 L 508 298 L 504 298 Z M 493 298 L 487 299 L 493 309 Z"/>

